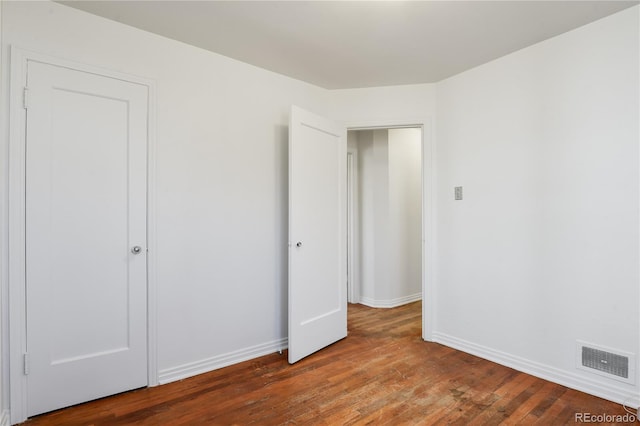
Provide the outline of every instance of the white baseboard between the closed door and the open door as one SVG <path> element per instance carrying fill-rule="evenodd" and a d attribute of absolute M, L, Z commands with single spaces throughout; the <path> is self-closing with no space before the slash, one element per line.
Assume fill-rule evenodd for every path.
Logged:
<path fill-rule="evenodd" d="M 175 382 L 177 380 L 186 379 L 198 374 L 207 373 L 222 367 L 237 364 L 239 362 L 248 361 L 260 356 L 269 355 L 286 349 L 288 339 L 283 338 L 273 342 L 263 343 L 249 348 L 240 349 L 227 354 L 218 355 L 212 358 L 203 359 L 201 361 L 190 362 L 188 364 L 179 365 L 177 367 L 160 370 L 158 382 L 161 385 Z"/>

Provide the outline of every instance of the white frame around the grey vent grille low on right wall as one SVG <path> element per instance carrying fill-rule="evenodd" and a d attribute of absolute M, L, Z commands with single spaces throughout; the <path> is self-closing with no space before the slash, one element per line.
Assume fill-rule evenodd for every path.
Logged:
<path fill-rule="evenodd" d="M 600 375 L 633 383 L 633 354 L 578 342 L 578 366 Z M 615 377 L 612 377 L 615 376 Z"/>

